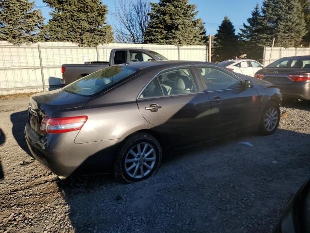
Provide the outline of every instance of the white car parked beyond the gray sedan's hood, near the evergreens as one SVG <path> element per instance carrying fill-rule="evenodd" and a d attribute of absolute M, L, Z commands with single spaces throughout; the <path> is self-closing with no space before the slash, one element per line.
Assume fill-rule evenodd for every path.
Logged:
<path fill-rule="evenodd" d="M 226 67 L 233 72 L 245 74 L 254 77 L 255 73 L 263 68 L 263 65 L 255 60 L 237 59 L 228 60 L 218 63 L 218 65 Z"/>

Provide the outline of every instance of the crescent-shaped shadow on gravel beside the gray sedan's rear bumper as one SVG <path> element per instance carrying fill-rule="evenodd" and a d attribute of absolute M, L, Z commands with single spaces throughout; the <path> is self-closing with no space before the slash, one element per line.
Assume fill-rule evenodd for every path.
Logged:
<path fill-rule="evenodd" d="M 11 114 L 10 119 L 13 124 L 12 134 L 16 142 L 23 150 L 25 150 L 27 154 L 31 155 L 31 152 L 28 149 L 26 139 L 25 139 L 25 134 L 24 134 L 25 125 L 28 119 L 28 110 L 13 113 Z"/>

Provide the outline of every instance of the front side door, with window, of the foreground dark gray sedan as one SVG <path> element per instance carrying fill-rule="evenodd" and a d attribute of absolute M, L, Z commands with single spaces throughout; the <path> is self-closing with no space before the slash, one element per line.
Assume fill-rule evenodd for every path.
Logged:
<path fill-rule="evenodd" d="M 258 123 L 259 95 L 244 89 L 240 79 L 215 66 L 197 66 L 211 100 L 211 136 L 218 138 L 255 127 Z"/>

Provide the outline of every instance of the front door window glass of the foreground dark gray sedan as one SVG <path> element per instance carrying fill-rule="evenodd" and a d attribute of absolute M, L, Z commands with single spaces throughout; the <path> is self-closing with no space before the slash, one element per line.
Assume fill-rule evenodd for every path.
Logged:
<path fill-rule="evenodd" d="M 207 91 L 227 90 L 240 86 L 240 81 L 230 74 L 210 67 L 198 67 L 202 75 L 202 81 L 207 86 Z"/>

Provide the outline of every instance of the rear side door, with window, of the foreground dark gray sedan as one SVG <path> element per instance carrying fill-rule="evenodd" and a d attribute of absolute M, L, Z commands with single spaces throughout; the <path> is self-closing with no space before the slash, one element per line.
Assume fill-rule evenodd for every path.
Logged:
<path fill-rule="evenodd" d="M 142 116 L 169 147 L 185 147 L 210 138 L 210 99 L 193 71 L 192 67 L 162 71 L 137 100 Z"/>

